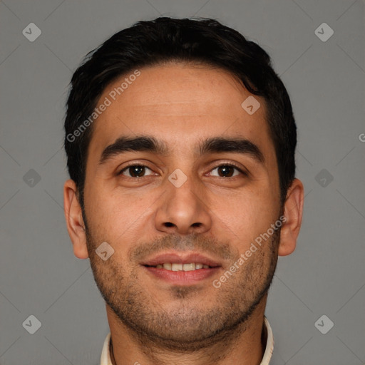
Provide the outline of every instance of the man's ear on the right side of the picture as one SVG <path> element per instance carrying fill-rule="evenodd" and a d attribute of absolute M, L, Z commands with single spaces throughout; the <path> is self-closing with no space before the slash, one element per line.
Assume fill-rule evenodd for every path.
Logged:
<path fill-rule="evenodd" d="M 304 205 L 304 187 L 300 180 L 294 179 L 287 192 L 284 204 L 284 225 L 280 231 L 279 256 L 290 255 L 297 244 L 300 226 L 302 225 Z"/>

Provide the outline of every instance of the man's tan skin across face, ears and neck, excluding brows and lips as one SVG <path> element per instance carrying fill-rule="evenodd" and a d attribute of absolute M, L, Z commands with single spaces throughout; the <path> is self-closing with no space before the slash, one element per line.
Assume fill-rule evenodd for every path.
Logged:
<path fill-rule="evenodd" d="M 295 249 L 302 222 L 303 185 L 295 179 L 284 207 L 264 100 L 249 115 L 241 107 L 250 93 L 220 69 L 170 63 L 140 69 L 140 76 L 93 124 L 88 149 L 85 214 L 76 185 L 64 185 L 64 206 L 73 252 L 89 258 L 104 299 L 114 364 L 259 364 L 267 289 L 278 255 Z M 110 84 L 103 101 L 126 76 Z M 128 77 L 128 75 L 127 75 Z M 98 105 L 98 103 L 97 103 Z M 99 164 L 104 148 L 120 136 L 163 140 L 168 155 L 127 152 Z M 264 155 L 197 153 L 205 138 L 246 138 Z M 127 165 L 143 163 L 132 178 Z M 240 170 L 222 175 L 220 164 Z M 168 177 L 179 168 L 187 180 Z M 143 175 L 142 173 L 142 175 Z M 235 274 L 212 286 L 251 242 L 284 213 L 286 222 Z M 87 223 L 87 227 L 85 224 Z M 103 261 L 101 242 L 115 250 Z M 140 260 L 173 249 L 198 251 L 220 262 L 214 277 L 189 286 L 150 275 Z"/>

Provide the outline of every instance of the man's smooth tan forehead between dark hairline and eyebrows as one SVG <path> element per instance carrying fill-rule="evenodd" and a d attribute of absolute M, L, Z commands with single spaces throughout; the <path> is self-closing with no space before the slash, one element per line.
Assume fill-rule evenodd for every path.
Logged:
<path fill-rule="evenodd" d="M 171 149 L 215 136 L 241 136 L 272 148 L 264 100 L 250 115 L 242 108 L 251 94 L 227 71 L 172 63 L 140 68 L 110 83 L 99 98 L 110 102 L 93 124 L 89 148 L 101 154 L 120 135 L 156 135 Z M 271 145 L 271 146 L 270 146 Z"/>

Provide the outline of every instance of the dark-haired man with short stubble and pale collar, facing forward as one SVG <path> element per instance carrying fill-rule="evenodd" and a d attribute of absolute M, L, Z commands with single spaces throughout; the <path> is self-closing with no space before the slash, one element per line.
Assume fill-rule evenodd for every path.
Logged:
<path fill-rule="evenodd" d="M 267 53 L 212 19 L 141 21 L 78 68 L 67 107 L 65 215 L 106 301 L 101 364 L 269 364 L 303 185 Z"/>

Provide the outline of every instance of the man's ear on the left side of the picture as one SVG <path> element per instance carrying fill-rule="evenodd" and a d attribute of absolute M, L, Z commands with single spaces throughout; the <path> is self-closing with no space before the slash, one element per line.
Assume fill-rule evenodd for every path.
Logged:
<path fill-rule="evenodd" d="M 73 245 L 73 254 L 79 259 L 87 259 L 88 247 L 86 245 L 85 225 L 77 198 L 76 184 L 71 179 L 63 185 L 63 206 L 68 235 Z"/>

